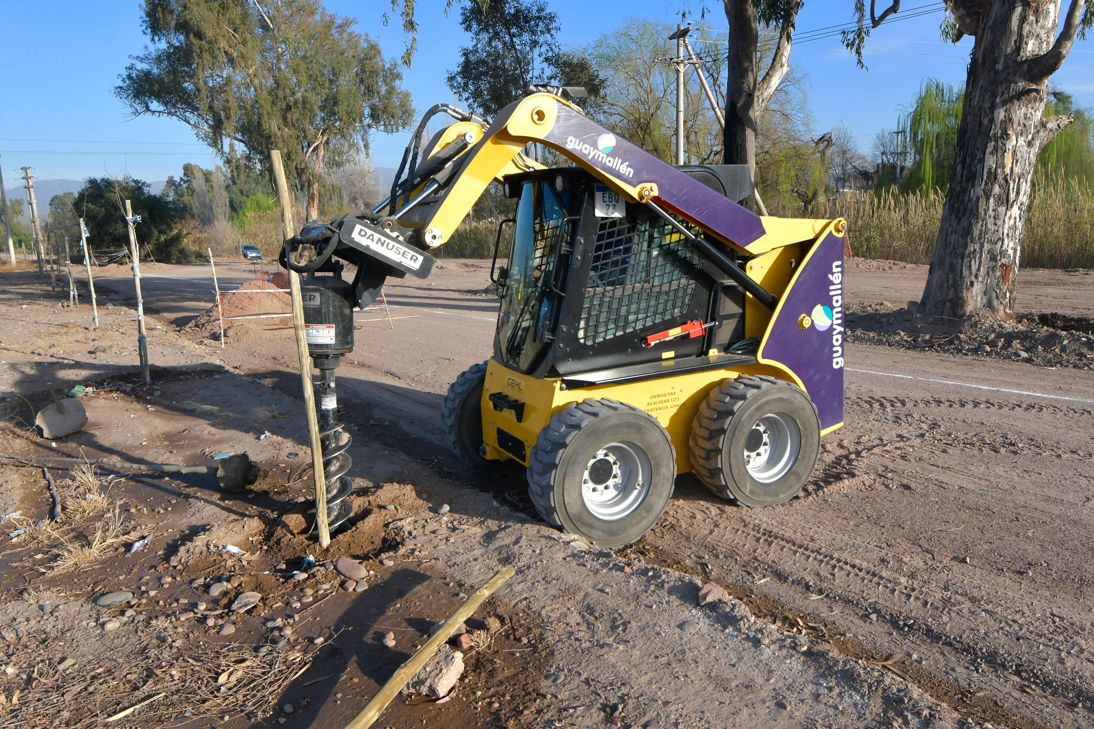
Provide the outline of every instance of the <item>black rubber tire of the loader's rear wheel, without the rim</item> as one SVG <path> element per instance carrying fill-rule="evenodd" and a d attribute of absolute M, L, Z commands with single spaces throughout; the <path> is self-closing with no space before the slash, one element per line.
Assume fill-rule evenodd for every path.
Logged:
<path fill-rule="evenodd" d="M 796 462 L 784 475 L 760 483 L 748 473 L 744 444 L 756 421 L 771 412 L 794 419 L 801 447 Z M 743 506 L 775 506 L 796 496 L 813 473 L 821 452 L 821 421 L 816 405 L 795 385 L 743 375 L 715 387 L 699 405 L 689 446 L 695 473 L 712 492 Z"/>

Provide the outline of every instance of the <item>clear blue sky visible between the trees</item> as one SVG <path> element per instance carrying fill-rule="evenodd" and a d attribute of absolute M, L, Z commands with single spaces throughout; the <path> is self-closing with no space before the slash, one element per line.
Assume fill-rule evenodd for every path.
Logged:
<path fill-rule="evenodd" d="M 698 13 L 699 3 L 560 0 L 549 3 L 558 13 L 562 38 L 582 45 L 609 31 L 624 17 L 676 22 L 682 11 Z M 336 13 L 358 19 L 358 28 L 376 38 L 392 57 L 403 51 L 397 22 L 381 22 L 387 2 L 327 0 Z M 917 8 L 939 7 L 930 0 L 906 0 L 899 19 Z M 405 85 L 415 105 L 424 109 L 452 101 L 444 84 L 455 67 L 465 36 L 456 12 L 445 17 L 444 0 L 419 2 L 419 52 L 405 71 Z M 720 3 L 710 3 L 708 21 L 724 28 Z M 851 20 L 850 0 L 807 0 L 799 16 L 799 32 Z M 593 12 L 591 12 L 593 9 Z M 810 107 L 818 131 L 842 122 L 857 136 L 863 151 L 882 127 L 892 127 L 928 77 L 948 83 L 965 78 L 969 39 L 957 47 L 939 42 L 941 10 L 882 26 L 868 46 L 869 72 L 839 45 L 838 37 L 795 44 L 791 63 L 804 71 Z M 136 0 L 43 0 L 5 2 L 0 7 L 0 154 L 4 183 L 14 187 L 19 167 L 31 165 L 39 179 L 73 178 L 128 171 L 146 180 L 179 174 L 184 162 L 210 166 L 214 160 L 183 124 L 168 119 L 130 119 L 113 96 L 117 77 L 144 45 Z M 22 43 L 25 39 L 27 43 Z M 1094 38 L 1078 42 L 1054 83 L 1075 94 L 1080 104 L 1094 106 Z M 405 136 L 377 136 L 373 156 L 377 165 L 396 166 Z"/>

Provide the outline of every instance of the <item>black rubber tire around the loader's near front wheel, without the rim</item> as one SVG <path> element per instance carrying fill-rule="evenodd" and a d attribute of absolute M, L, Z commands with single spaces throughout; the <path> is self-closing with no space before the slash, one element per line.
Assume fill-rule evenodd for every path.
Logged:
<path fill-rule="evenodd" d="M 581 480 L 593 455 L 609 443 L 642 449 L 650 462 L 650 489 L 627 516 L 606 520 L 585 506 Z M 539 432 L 527 470 L 528 495 L 545 521 L 602 546 L 638 541 L 668 506 L 676 481 L 676 449 L 649 413 L 616 400 L 572 402 Z"/>

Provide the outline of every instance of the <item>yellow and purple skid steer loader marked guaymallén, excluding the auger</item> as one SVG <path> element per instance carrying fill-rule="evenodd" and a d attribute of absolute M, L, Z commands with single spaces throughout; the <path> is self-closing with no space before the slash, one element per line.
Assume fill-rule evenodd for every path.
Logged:
<path fill-rule="evenodd" d="M 489 125 L 433 107 L 391 197 L 310 223 L 288 255 L 356 263 L 364 306 L 388 275 L 428 275 L 498 181 L 516 213 L 491 268 L 493 356 L 444 400 L 459 458 L 517 461 L 546 521 L 606 546 L 652 527 L 687 471 L 744 506 L 790 501 L 843 420 L 845 222 L 757 216 L 740 169 L 666 164 L 587 118 L 581 93 L 533 87 Z M 455 122 L 427 140 L 441 113 Z M 545 168 L 531 142 L 571 166 Z"/>

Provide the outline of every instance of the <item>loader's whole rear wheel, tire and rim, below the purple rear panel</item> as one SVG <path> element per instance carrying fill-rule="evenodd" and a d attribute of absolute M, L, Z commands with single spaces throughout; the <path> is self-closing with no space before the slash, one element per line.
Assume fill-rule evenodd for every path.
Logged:
<path fill-rule="evenodd" d="M 744 506 L 785 504 L 816 465 L 821 423 L 800 388 L 741 376 L 715 387 L 691 424 L 691 465 L 703 485 Z"/>

